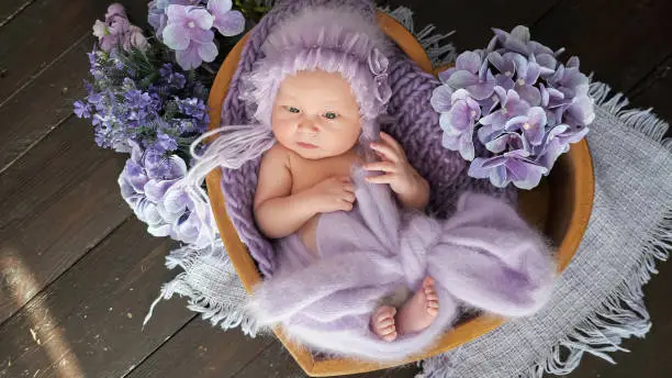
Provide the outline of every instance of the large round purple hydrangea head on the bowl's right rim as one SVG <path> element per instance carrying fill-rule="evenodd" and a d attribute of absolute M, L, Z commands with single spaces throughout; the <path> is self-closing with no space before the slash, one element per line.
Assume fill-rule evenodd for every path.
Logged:
<path fill-rule="evenodd" d="M 594 119 L 589 78 L 579 58 L 530 41 L 529 30 L 494 30 L 485 49 L 464 52 L 439 74 L 432 96 L 444 147 L 470 160 L 469 176 L 496 187 L 531 189 Z M 474 142 L 491 157 L 475 156 Z"/>

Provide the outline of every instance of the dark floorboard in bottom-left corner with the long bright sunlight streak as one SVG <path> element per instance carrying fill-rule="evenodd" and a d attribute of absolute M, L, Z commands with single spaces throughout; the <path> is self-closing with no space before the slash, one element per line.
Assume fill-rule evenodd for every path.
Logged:
<path fill-rule="evenodd" d="M 0 377 L 122 377 L 133 369 L 194 316 L 176 300 L 141 330 L 157 284 L 175 276 L 164 266 L 172 247 L 126 221 L 0 326 Z M 30 266 L 20 270 L 30 284 Z"/>

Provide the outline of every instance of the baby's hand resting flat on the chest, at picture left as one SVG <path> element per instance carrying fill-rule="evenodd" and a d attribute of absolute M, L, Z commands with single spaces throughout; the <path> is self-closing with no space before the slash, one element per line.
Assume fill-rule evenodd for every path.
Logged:
<path fill-rule="evenodd" d="M 329 177 L 307 189 L 306 200 L 317 212 L 350 211 L 355 202 L 355 187 L 349 177 Z"/>

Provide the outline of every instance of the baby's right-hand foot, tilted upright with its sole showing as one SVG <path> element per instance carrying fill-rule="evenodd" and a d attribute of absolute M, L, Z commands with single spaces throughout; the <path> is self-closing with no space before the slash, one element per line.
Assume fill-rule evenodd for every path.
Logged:
<path fill-rule="evenodd" d="M 404 303 L 396 316 L 400 334 L 414 333 L 428 327 L 438 315 L 438 296 L 434 279 L 425 277 L 423 287 Z"/>

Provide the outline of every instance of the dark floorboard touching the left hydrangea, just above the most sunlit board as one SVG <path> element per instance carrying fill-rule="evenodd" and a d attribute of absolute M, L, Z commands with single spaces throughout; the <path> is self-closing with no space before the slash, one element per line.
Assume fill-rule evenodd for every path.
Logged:
<path fill-rule="evenodd" d="M 70 118 L 0 174 L 0 258 L 31 274 L 26 285 L 2 271 L 0 323 L 131 215 L 116 184 L 125 159 Z"/>

